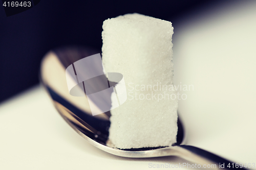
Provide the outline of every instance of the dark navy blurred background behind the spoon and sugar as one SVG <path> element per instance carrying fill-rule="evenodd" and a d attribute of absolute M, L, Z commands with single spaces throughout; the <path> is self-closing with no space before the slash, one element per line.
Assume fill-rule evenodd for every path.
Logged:
<path fill-rule="evenodd" d="M 137 12 L 170 20 L 175 28 L 180 18 L 220 3 L 223 1 L 41 0 L 33 8 L 9 17 L 2 6 L 0 102 L 39 83 L 40 60 L 52 48 L 83 45 L 100 50 L 105 19 Z"/>

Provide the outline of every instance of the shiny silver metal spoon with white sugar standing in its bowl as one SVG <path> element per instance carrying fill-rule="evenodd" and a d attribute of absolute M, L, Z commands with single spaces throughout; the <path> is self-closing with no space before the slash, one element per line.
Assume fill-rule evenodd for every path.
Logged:
<path fill-rule="evenodd" d="M 216 164 L 215 168 L 220 168 L 221 165 L 223 168 L 223 164 L 228 169 L 235 167 L 236 163 L 215 154 L 190 145 L 181 145 L 184 133 L 179 119 L 177 143 L 172 147 L 140 149 L 117 149 L 109 147 L 108 129 L 110 127 L 110 112 L 92 116 L 86 96 L 71 96 L 66 83 L 65 70 L 70 64 L 97 53 L 97 51 L 83 47 L 59 48 L 49 52 L 41 63 L 41 84 L 47 90 L 59 114 L 79 135 L 95 147 L 117 156 L 130 158 L 178 156 L 198 163 L 201 167 L 211 164 Z M 240 166 L 238 168 L 244 169 Z"/>

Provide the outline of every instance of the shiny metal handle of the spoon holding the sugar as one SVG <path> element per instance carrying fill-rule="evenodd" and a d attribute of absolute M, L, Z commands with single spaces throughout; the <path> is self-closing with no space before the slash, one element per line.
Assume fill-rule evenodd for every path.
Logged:
<path fill-rule="evenodd" d="M 190 145 L 179 145 L 177 147 L 178 147 L 177 149 L 180 151 L 178 156 L 188 161 L 201 164 L 201 168 L 203 167 L 203 165 L 209 166 L 209 165 L 215 164 L 216 165 L 215 168 L 220 168 L 220 169 L 224 169 L 224 168 L 225 169 L 237 169 L 237 168 L 248 169 L 248 168 L 245 168 L 244 165 L 240 166 L 239 163 L 236 164 L 236 162 L 229 161 L 218 155 L 212 154 L 210 152 L 207 152 L 205 150 L 202 150 Z"/>

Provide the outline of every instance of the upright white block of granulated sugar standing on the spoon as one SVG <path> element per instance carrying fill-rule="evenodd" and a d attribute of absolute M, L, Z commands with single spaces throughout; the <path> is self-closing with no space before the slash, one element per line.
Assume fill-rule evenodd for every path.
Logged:
<path fill-rule="evenodd" d="M 120 149 L 172 145 L 178 130 L 172 23 L 134 13 L 107 19 L 102 28 L 104 68 L 123 75 L 127 92 L 126 102 L 111 110 L 111 143 Z"/>

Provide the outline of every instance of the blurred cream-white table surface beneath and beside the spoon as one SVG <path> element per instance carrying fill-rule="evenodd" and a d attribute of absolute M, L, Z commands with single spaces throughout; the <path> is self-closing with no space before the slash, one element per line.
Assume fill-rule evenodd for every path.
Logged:
<path fill-rule="evenodd" d="M 175 84 L 194 86 L 180 91 L 187 95 L 179 101 L 186 144 L 238 163 L 256 163 L 255 9 L 256 1 L 214 7 L 184 19 L 173 37 Z M 40 86 L 0 105 L 0 169 L 152 169 L 148 163 L 183 162 L 122 158 L 93 147 Z"/>

